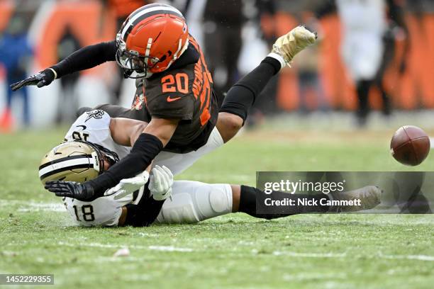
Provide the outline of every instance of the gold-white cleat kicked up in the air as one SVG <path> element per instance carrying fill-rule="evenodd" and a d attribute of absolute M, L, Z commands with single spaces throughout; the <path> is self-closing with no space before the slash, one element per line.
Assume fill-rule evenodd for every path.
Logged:
<path fill-rule="evenodd" d="M 297 26 L 274 42 L 272 53 L 283 57 L 286 64 L 291 67 L 290 64 L 294 56 L 301 50 L 304 50 L 304 48 L 315 43 L 315 40 L 316 33 L 312 33 L 304 28 L 304 26 Z"/>

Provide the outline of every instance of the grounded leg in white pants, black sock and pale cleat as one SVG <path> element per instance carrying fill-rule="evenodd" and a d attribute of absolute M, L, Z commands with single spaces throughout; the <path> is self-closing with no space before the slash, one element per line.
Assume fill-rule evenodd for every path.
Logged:
<path fill-rule="evenodd" d="M 367 210 L 379 203 L 381 190 L 376 186 L 366 186 L 354 191 L 329 193 L 325 195 L 290 194 L 272 191 L 267 198 L 274 201 L 291 200 L 293 205 L 286 208 L 272 208 L 267 213 L 258 213 L 257 197 L 264 192 L 250 186 L 228 185 L 226 183 L 201 183 L 199 181 L 174 181 L 172 199 L 162 206 L 157 223 L 194 223 L 226 215 L 230 212 L 245 212 L 252 217 L 275 219 L 305 213 L 349 212 Z M 331 200 L 360 199 L 360 207 L 330 205 Z M 311 200 L 308 205 L 300 205 L 299 200 Z"/>

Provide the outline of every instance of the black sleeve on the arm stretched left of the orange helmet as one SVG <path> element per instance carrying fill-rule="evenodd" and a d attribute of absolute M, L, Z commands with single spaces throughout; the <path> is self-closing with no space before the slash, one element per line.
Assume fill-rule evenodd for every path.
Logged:
<path fill-rule="evenodd" d="M 72 53 L 51 68 L 55 69 L 57 78 L 60 78 L 72 72 L 96 67 L 107 61 L 115 61 L 116 49 L 115 40 L 89 45 Z"/>

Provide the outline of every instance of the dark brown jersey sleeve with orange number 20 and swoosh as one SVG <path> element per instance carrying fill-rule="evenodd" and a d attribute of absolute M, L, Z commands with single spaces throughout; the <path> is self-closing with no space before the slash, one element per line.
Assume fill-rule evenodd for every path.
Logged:
<path fill-rule="evenodd" d="M 147 81 L 145 101 L 150 115 L 191 121 L 194 115 L 193 81 L 194 77 L 184 69 L 172 70 Z"/>

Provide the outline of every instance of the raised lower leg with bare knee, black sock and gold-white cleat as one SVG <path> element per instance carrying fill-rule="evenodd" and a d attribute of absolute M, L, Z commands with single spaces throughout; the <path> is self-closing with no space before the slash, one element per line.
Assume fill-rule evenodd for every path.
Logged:
<path fill-rule="evenodd" d="M 272 52 L 258 67 L 232 86 L 223 101 L 216 125 L 224 142 L 228 142 L 243 127 L 247 112 L 268 81 L 315 40 L 316 34 L 304 26 L 294 28 L 277 39 Z"/>

